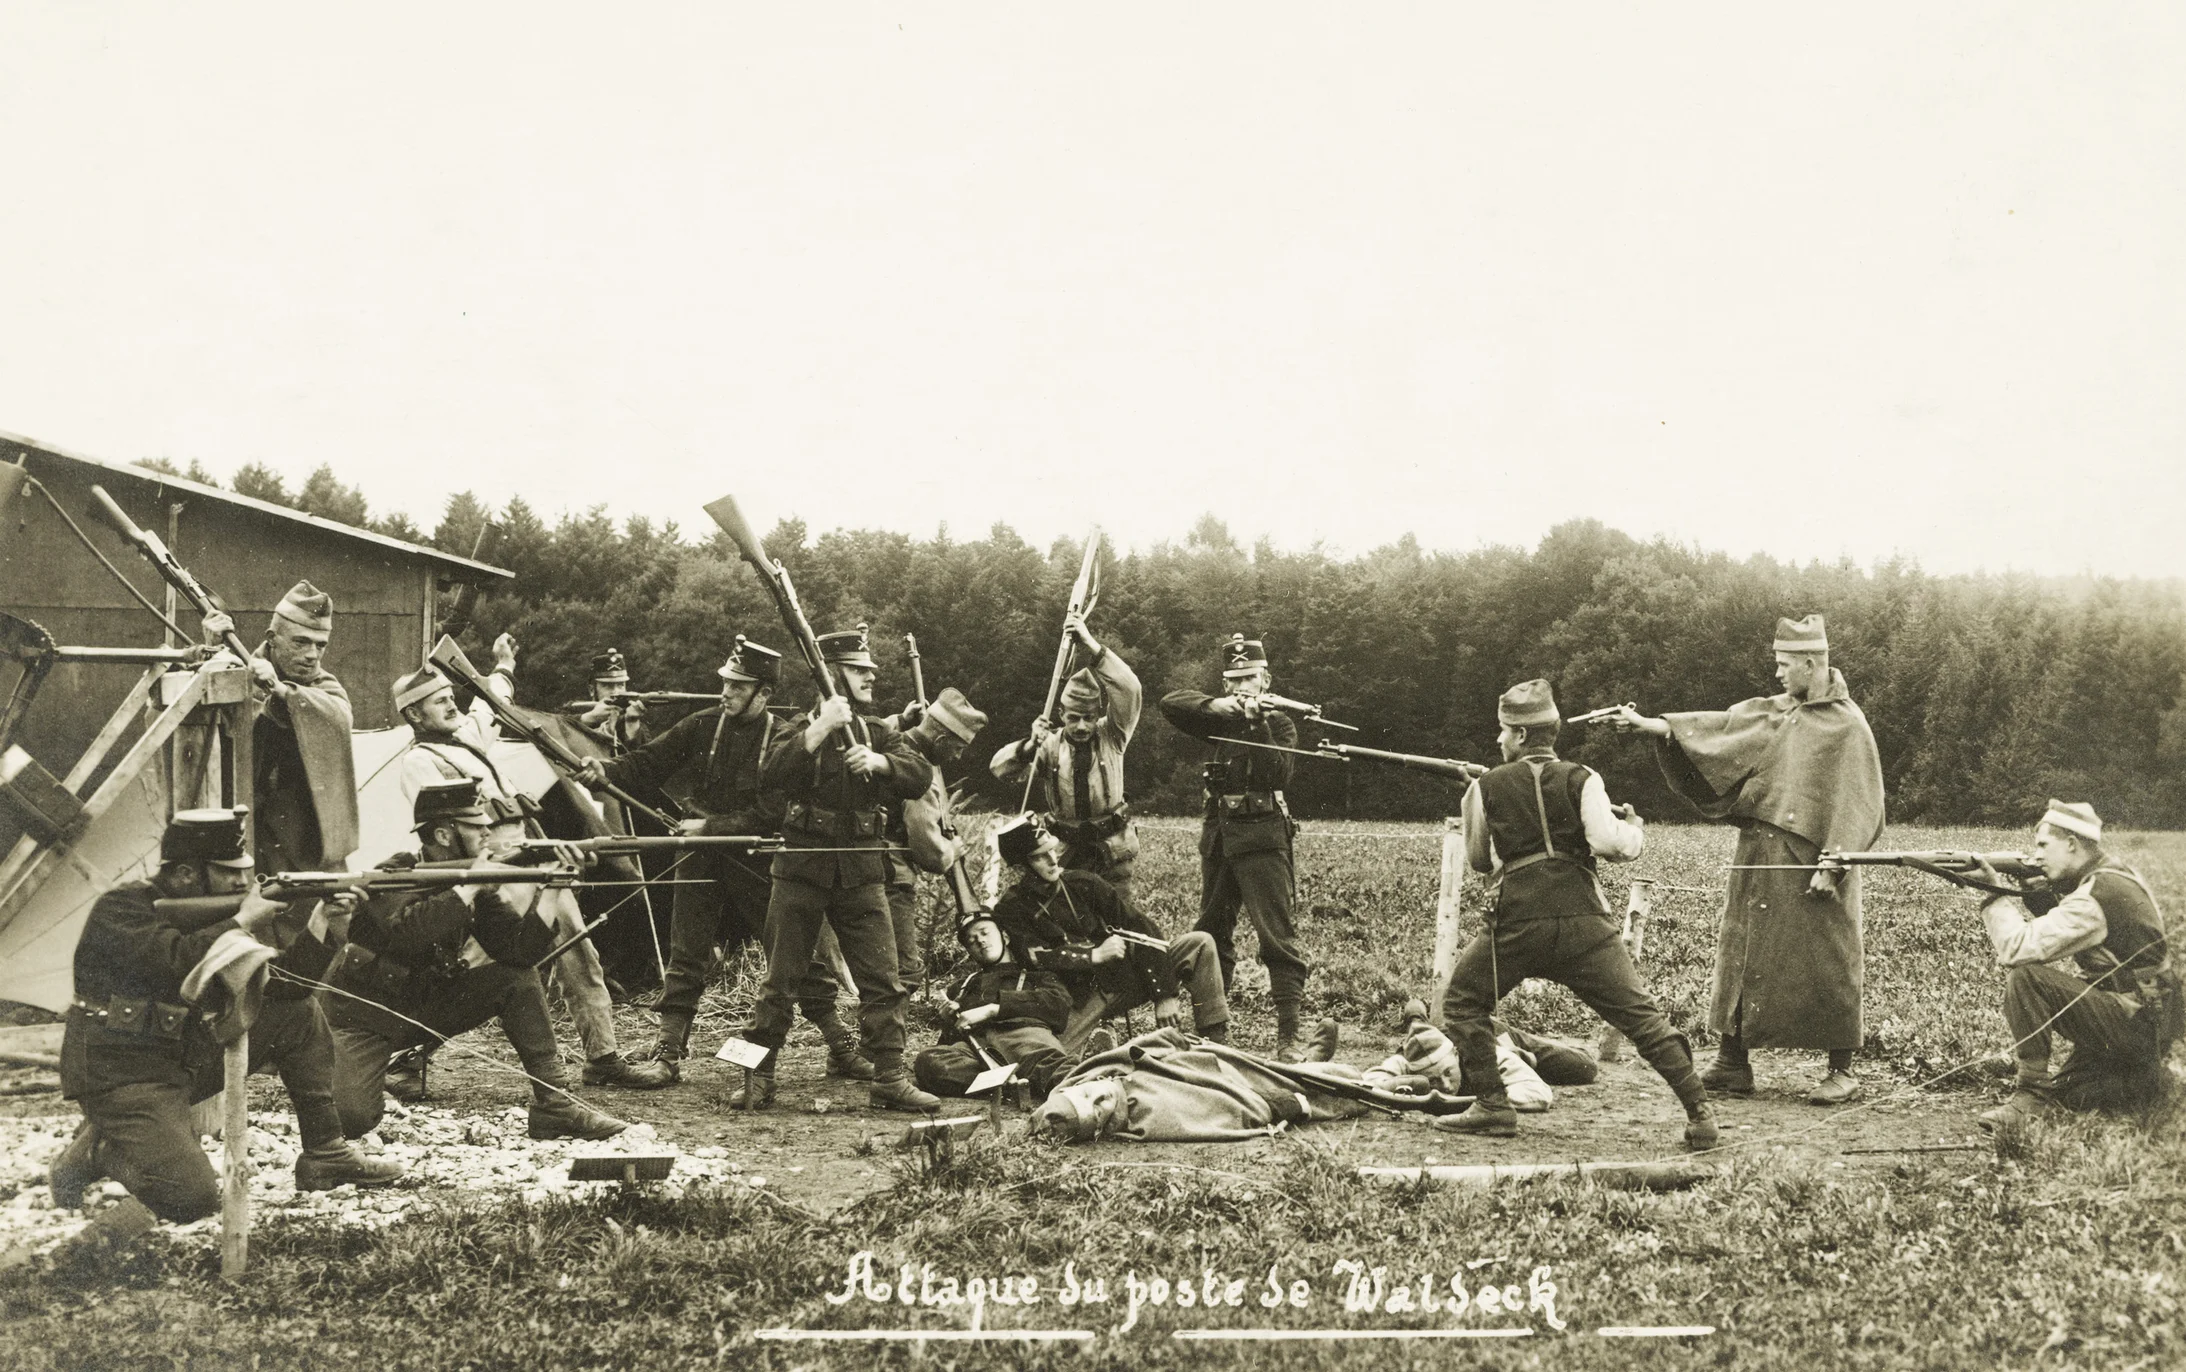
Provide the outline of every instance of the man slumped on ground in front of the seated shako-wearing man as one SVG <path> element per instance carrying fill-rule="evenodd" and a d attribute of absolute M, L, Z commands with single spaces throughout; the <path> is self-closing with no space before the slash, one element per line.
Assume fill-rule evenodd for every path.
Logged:
<path fill-rule="evenodd" d="M 1014 1062 L 1034 1099 L 1047 1099 L 1069 1071 L 1056 1031 L 1071 1014 L 1071 992 L 1034 968 L 1030 948 L 1006 942 L 988 915 L 964 920 L 957 939 L 975 966 L 951 996 L 955 1016 L 942 1042 L 912 1064 L 920 1090 L 960 1097 L 979 1073 Z"/>

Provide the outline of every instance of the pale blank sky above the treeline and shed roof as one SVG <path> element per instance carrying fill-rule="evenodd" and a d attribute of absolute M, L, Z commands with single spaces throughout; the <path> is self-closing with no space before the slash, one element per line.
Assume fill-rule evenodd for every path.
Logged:
<path fill-rule="evenodd" d="M 2175 4 L 15 0 L 0 430 L 426 527 L 2173 577 L 2182 72 Z"/>

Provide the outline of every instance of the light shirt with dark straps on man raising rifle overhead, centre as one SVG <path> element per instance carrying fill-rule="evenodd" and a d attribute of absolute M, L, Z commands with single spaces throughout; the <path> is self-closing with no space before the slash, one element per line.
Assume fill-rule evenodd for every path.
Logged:
<path fill-rule="evenodd" d="M 1093 736 L 1078 743 L 1056 730 L 1038 756 L 1030 756 L 1032 741 L 1023 738 L 997 749 L 988 771 L 1008 784 L 1023 784 L 1025 767 L 1032 767 L 1045 806 L 1043 821 L 1062 839 L 1062 865 L 1093 872 L 1130 900 L 1139 830 L 1124 800 L 1124 749 L 1139 732 L 1145 695 L 1139 673 L 1106 647 L 1086 671 L 1108 697 L 1108 712 L 1093 728 Z"/>

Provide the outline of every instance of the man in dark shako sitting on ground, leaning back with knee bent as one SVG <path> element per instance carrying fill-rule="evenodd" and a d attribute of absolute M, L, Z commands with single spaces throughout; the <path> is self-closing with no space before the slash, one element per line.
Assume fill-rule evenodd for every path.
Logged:
<path fill-rule="evenodd" d="M 1065 867 L 1062 843 L 1030 815 L 1003 826 L 995 845 L 1016 872 L 1016 883 L 995 902 L 995 924 L 1025 950 L 1027 966 L 1060 972 L 1071 987 L 1071 1018 L 1062 1029 L 1071 1057 L 1084 1051 L 1104 1018 L 1148 1001 L 1154 1025 L 1178 1025 L 1178 977 L 1191 990 L 1198 1036 L 1229 1042 L 1229 996 L 1213 935 L 1194 931 L 1163 939 L 1161 929 L 1106 880 Z"/>

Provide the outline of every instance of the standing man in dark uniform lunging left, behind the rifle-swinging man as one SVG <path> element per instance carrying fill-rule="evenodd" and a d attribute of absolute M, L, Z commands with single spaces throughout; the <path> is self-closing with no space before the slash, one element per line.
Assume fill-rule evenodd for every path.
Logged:
<path fill-rule="evenodd" d="M 634 795 L 658 795 L 675 780 L 689 786 L 695 817 L 686 835 L 772 835 L 783 824 L 780 795 L 759 780 L 759 767 L 778 728 L 767 699 L 783 679 L 783 655 L 737 636 L 721 664 L 721 703 L 697 710 L 645 747 L 612 762 L 586 762 L 588 784 L 612 782 Z M 691 1042 L 706 979 L 721 961 L 721 944 L 756 939 L 767 922 L 769 880 L 748 852 L 700 850 L 678 859 L 675 904 L 669 924 L 669 974 L 660 990 L 660 1042 L 654 1057 L 680 1071 Z M 811 1007 L 809 1007 L 811 1009 Z M 857 1040 L 835 1018 L 833 998 L 813 1022 L 828 1051 L 853 1051 Z"/>

